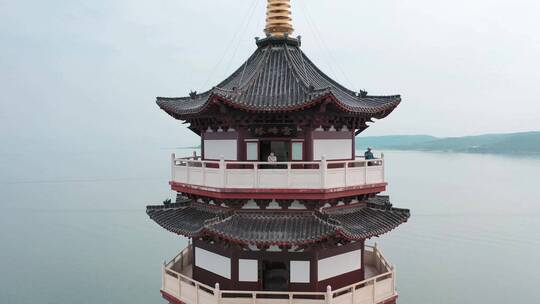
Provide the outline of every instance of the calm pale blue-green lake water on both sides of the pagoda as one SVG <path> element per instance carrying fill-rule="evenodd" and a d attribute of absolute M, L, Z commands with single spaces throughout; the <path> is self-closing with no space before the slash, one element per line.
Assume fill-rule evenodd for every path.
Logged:
<path fill-rule="evenodd" d="M 2 155 L 0 303 L 164 303 L 161 263 L 187 241 L 145 206 L 171 195 L 170 153 Z M 399 303 L 540 303 L 540 158 L 385 154 L 412 217 L 371 242 L 396 264 Z"/>

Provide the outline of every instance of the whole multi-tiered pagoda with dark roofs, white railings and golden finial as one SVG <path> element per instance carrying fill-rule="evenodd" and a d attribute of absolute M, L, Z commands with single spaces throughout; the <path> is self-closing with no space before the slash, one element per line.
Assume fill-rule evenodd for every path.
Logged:
<path fill-rule="evenodd" d="M 162 269 L 175 304 L 396 303 L 395 267 L 366 240 L 406 222 L 387 196 L 383 157 L 356 156 L 355 137 L 399 95 L 349 90 L 293 38 L 289 0 L 268 0 L 266 37 L 204 92 L 158 97 L 201 138 L 201 155 L 171 158 L 174 202 L 150 218 L 189 238 Z"/>

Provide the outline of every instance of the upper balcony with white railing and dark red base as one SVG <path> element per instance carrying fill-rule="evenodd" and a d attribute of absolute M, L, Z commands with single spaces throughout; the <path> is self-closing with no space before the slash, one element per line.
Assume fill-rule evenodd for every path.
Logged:
<path fill-rule="evenodd" d="M 171 186 L 216 198 L 331 199 L 385 190 L 384 159 L 239 162 L 176 158 Z"/>

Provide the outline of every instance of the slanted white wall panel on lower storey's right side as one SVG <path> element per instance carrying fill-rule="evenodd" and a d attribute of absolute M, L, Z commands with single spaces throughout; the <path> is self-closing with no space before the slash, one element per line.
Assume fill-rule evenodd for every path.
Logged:
<path fill-rule="evenodd" d="M 362 251 L 356 250 L 319 260 L 319 281 L 362 268 Z"/>

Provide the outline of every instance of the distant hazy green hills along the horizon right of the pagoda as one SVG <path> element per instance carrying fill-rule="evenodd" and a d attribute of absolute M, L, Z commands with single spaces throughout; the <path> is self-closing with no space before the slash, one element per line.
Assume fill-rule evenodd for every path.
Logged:
<path fill-rule="evenodd" d="M 357 137 L 356 148 L 464 153 L 539 154 L 540 132 L 437 138 L 428 135 Z"/>

